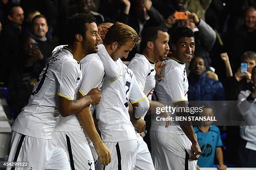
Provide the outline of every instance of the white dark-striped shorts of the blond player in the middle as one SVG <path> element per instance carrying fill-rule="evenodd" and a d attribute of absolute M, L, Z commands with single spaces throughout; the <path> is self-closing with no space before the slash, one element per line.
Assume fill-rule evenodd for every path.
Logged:
<path fill-rule="evenodd" d="M 137 140 L 104 143 L 110 150 L 111 162 L 103 166 L 100 164 L 99 157 L 95 170 L 133 170 L 136 162 Z"/>

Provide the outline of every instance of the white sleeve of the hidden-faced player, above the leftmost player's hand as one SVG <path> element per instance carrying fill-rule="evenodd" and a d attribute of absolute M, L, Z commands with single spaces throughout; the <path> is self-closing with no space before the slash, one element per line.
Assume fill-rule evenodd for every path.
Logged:
<path fill-rule="evenodd" d="M 104 78 L 104 67 L 100 61 L 92 61 L 87 63 L 87 67 L 83 68 L 83 80 L 79 88 L 79 92 L 85 96 L 91 89 L 97 88 Z"/>

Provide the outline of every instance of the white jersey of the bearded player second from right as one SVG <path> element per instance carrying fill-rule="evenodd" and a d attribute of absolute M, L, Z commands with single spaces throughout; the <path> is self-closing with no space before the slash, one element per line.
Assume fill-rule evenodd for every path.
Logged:
<path fill-rule="evenodd" d="M 156 85 L 155 63 L 142 54 L 135 54 L 128 68 L 133 71 L 138 85 L 141 86 L 144 94 L 151 100 Z"/>

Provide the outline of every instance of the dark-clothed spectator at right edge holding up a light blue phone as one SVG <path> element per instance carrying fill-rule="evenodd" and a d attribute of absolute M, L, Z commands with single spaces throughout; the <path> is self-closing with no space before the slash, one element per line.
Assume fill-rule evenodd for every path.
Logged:
<path fill-rule="evenodd" d="M 253 85 L 251 83 L 251 71 L 253 66 L 256 66 L 256 53 L 252 51 L 244 53 L 242 56 L 242 62 L 248 63 L 246 74 L 241 75 L 241 69 L 239 68 L 234 76 L 227 77 L 223 81 L 225 97 L 228 101 L 238 101 L 238 95 L 241 91 L 252 90 Z M 230 120 L 241 120 L 239 111 L 236 107 L 233 107 L 233 104 L 228 104 L 228 111 Z M 239 127 L 227 127 L 228 161 L 235 164 L 238 162 L 238 147 L 233 141 L 238 139 L 240 139 Z"/>

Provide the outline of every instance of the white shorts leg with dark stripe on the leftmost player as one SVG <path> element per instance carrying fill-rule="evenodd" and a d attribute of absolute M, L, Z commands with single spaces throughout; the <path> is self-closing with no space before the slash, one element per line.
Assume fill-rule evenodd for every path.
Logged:
<path fill-rule="evenodd" d="M 29 137 L 14 131 L 11 136 L 12 141 L 8 161 L 28 162 L 29 168 L 44 169 L 54 153 L 55 141 Z M 23 170 L 23 168 L 16 169 Z M 28 167 L 25 169 L 27 170 Z"/>

